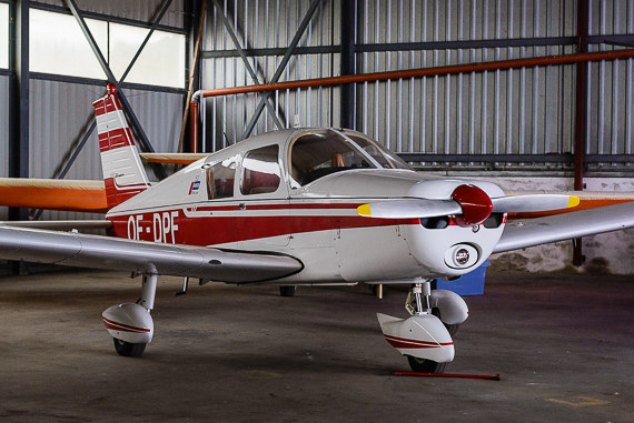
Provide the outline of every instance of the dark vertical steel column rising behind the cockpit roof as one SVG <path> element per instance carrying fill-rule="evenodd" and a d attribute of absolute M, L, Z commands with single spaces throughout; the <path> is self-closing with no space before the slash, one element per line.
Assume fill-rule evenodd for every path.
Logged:
<path fill-rule="evenodd" d="M 341 1 L 341 63 L 340 74 L 355 74 L 355 1 Z M 355 84 L 341 85 L 341 127 L 355 128 Z"/>

